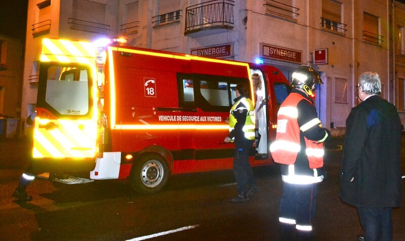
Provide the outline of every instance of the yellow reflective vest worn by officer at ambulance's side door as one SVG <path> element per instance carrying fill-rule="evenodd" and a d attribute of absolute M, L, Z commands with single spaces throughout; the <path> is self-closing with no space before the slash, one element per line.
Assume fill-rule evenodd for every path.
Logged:
<path fill-rule="evenodd" d="M 235 99 L 235 104 L 232 106 L 229 112 L 229 137 L 232 139 L 235 137 L 234 128 L 237 123 L 237 114 L 246 113 L 244 117 L 246 117 L 244 126 L 242 127 L 242 131 L 244 132 L 245 138 L 249 140 L 255 139 L 255 107 L 253 102 L 246 97 L 240 96 L 239 98 Z M 242 118 L 245 119 L 245 118 Z"/>

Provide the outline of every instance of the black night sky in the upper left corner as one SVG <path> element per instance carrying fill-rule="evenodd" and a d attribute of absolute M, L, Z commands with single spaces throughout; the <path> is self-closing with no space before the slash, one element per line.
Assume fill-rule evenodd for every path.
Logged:
<path fill-rule="evenodd" d="M 28 0 L 0 0 L 0 34 L 25 41 Z"/>

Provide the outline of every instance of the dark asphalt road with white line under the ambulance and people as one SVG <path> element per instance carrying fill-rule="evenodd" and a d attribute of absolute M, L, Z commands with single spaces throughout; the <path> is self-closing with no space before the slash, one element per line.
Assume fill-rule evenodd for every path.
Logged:
<path fill-rule="evenodd" d="M 326 154 L 328 179 L 319 185 L 313 240 L 355 240 L 361 233 L 356 210 L 338 197 L 342 139 L 334 141 Z M 0 142 L 0 155 L 9 153 L 7 161 L 0 159 L 1 240 L 278 239 L 277 165 L 254 169 L 262 190 L 246 203 L 229 202 L 236 194 L 233 174 L 221 171 L 175 176 L 155 195 L 134 194 L 125 180 L 65 185 L 37 178 L 28 187 L 33 201 L 18 204 L 11 195 L 25 164 L 14 159 L 29 155 L 18 142 Z M 394 240 L 405 240 L 405 208 L 395 209 L 393 218 Z"/>

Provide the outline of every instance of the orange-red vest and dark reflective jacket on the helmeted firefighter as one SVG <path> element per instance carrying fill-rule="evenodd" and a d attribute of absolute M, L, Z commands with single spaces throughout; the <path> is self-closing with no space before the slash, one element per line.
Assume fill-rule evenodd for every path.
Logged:
<path fill-rule="evenodd" d="M 301 121 L 300 121 L 301 119 Z M 330 132 L 322 128 L 310 99 L 294 89 L 277 114 L 276 140 L 270 146 L 274 162 L 281 167 L 282 180 L 309 184 L 323 179 L 323 141 Z M 308 135 L 307 135 L 308 132 Z"/>

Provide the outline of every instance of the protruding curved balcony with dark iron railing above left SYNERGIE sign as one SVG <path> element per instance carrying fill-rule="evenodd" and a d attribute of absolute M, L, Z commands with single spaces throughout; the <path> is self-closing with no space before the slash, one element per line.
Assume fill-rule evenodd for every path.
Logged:
<path fill-rule="evenodd" d="M 233 28 L 234 1 L 214 0 L 186 8 L 184 35 L 197 37 L 203 30 L 207 34 L 226 32 Z"/>

